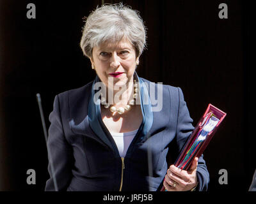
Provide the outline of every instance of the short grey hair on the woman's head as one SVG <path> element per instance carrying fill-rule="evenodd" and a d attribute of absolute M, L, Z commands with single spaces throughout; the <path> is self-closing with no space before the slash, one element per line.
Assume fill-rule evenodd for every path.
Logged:
<path fill-rule="evenodd" d="M 139 12 L 130 6 L 122 3 L 97 6 L 85 19 L 80 47 L 86 57 L 92 57 L 93 47 L 106 41 L 115 43 L 122 38 L 134 45 L 137 57 L 146 47 L 146 27 Z"/>

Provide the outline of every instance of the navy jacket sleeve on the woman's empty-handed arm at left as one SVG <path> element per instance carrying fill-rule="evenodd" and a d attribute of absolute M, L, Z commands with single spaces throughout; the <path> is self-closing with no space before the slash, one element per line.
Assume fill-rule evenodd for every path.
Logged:
<path fill-rule="evenodd" d="M 52 167 L 58 191 L 67 191 L 72 178 L 72 147 L 65 138 L 60 114 L 60 101 L 57 95 L 54 99 L 53 110 L 49 115 L 51 125 L 49 127 L 47 150 L 50 179 L 46 182 L 45 191 L 56 190 L 50 159 L 52 159 Z"/>

